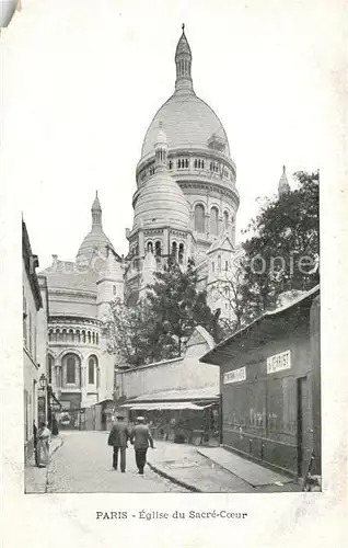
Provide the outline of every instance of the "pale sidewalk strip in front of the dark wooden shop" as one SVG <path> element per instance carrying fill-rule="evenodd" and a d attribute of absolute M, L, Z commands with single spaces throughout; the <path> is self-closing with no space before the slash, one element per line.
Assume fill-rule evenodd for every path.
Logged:
<path fill-rule="evenodd" d="M 239 457 L 222 447 L 194 447 L 155 442 L 148 450 L 152 470 L 193 492 L 250 493 L 300 491 L 300 486 L 283 476 Z"/>

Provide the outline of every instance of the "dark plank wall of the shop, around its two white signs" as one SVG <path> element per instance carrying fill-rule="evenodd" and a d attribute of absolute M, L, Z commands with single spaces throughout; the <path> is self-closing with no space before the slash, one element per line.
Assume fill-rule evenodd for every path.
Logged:
<path fill-rule="evenodd" d="M 309 319 L 308 319 L 309 320 Z M 230 361 L 221 367 L 223 444 L 253 458 L 298 473 L 299 383 L 305 378 L 303 421 L 308 446 L 313 445 L 312 391 L 313 366 L 309 321 L 305 329 L 292 330 L 291 336 L 268 342 Z M 291 352 L 291 368 L 267 374 L 267 357 Z M 245 367 L 245 379 L 227 384 L 224 374 Z M 309 437 L 310 436 L 310 437 Z M 309 449 L 308 447 L 308 449 Z M 310 452 L 303 446 L 303 460 Z"/>

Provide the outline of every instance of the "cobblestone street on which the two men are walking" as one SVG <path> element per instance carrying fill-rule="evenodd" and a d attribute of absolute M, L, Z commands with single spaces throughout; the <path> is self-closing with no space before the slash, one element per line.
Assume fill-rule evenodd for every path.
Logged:
<path fill-rule="evenodd" d="M 162 478 L 148 466 L 137 473 L 135 452 L 127 449 L 126 473 L 112 468 L 106 432 L 63 432 L 63 445 L 48 469 L 48 493 L 185 493 L 185 488 Z M 149 449 L 151 450 L 151 449 Z"/>

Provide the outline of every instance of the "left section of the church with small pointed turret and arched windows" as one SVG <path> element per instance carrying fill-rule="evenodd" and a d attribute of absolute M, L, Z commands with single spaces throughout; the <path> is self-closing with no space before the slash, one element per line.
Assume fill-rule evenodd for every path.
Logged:
<path fill-rule="evenodd" d="M 91 231 L 76 261 L 53 255 L 43 272 L 49 299 L 48 378 L 62 408 L 72 413 L 72 426 L 79 425 L 79 409 L 113 393 L 114 358 L 101 328 L 107 302 L 124 292 L 121 259 L 103 231 L 97 195 L 91 214 Z"/>

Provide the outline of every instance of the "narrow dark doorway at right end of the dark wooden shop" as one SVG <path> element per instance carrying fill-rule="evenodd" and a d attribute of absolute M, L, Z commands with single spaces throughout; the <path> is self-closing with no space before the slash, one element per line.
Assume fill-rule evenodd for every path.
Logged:
<path fill-rule="evenodd" d="M 311 401 L 308 377 L 298 378 L 298 473 L 305 476 L 312 455 Z"/>

